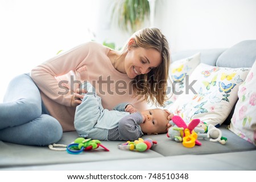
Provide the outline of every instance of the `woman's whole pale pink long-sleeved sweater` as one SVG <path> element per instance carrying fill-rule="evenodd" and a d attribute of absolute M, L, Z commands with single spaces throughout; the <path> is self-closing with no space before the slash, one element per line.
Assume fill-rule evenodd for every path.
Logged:
<path fill-rule="evenodd" d="M 89 42 L 62 53 L 31 70 L 31 77 L 40 89 L 42 100 L 51 116 L 61 124 L 63 131 L 75 130 L 75 107 L 71 107 L 73 90 L 79 84 L 71 82 L 72 71 L 86 65 L 89 71 L 89 81 L 102 98 L 106 109 L 115 105 L 129 102 L 139 110 L 147 109 L 146 101 L 139 101 L 131 94 L 131 79 L 126 74 L 115 70 L 107 56 L 109 48 Z M 60 81 L 68 81 L 69 90 L 59 86 Z M 99 81 L 102 81 L 101 83 Z M 73 87 L 72 87 L 73 86 Z M 58 94 L 59 93 L 59 94 Z"/>

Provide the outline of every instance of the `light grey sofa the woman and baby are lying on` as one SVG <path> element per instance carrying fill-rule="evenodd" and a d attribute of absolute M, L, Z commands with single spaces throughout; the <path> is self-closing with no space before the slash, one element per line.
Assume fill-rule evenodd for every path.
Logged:
<path fill-rule="evenodd" d="M 230 48 L 172 53 L 172 62 L 195 54 L 198 56 L 197 53 L 200 53 L 200 64 L 250 70 L 256 60 L 256 40 L 241 41 Z M 198 81 L 200 78 L 197 78 Z M 179 98 L 176 101 L 181 100 Z M 225 145 L 211 142 L 209 138 L 198 138 L 201 146 L 184 147 L 181 142 L 168 138 L 167 134 L 158 134 L 142 137 L 157 142 L 150 150 L 143 152 L 118 149 L 118 145 L 123 143 L 121 141 L 101 141 L 109 151 L 98 147 L 72 155 L 67 151 L 50 150 L 48 146 L 22 146 L 0 141 L 0 170 L 256 170 L 256 146 L 230 130 L 237 102 L 238 98 L 234 96 L 229 108 L 222 109 L 221 115 L 227 117 L 224 116 L 216 125 L 222 136 L 228 139 Z M 175 100 L 169 104 L 174 103 Z M 255 125 L 253 127 L 255 130 Z M 76 132 L 66 132 L 58 143 L 69 145 L 77 137 Z"/>

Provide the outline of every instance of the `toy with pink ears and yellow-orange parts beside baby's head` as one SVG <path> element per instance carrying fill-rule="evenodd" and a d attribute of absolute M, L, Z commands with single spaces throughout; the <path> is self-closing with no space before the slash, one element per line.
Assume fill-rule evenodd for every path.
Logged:
<path fill-rule="evenodd" d="M 194 119 L 187 125 L 180 116 L 174 116 L 170 121 L 172 127 L 168 130 L 167 137 L 176 142 L 183 142 L 185 147 L 200 146 L 201 142 L 197 140 L 197 134 L 193 131 L 199 122 L 199 119 Z"/>

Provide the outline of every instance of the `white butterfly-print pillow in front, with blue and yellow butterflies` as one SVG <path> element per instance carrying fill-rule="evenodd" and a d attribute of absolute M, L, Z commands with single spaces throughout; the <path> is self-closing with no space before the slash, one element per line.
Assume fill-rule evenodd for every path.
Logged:
<path fill-rule="evenodd" d="M 236 103 L 238 86 L 249 70 L 201 63 L 189 77 L 184 92 L 168 109 L 187 122 L 200 118 L 207 124 L 219 126 Z"/>

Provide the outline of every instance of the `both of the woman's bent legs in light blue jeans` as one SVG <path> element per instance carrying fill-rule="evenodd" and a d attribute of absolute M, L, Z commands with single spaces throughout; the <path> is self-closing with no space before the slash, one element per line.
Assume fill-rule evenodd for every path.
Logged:
<path fill-rule="evenodd" d="M 10 82 L 0 103 L 0 140 L 22 145 L 48 145 L 62 136 L 59 122 L 42 115 L 38 87 L 27 74 Z"/>

